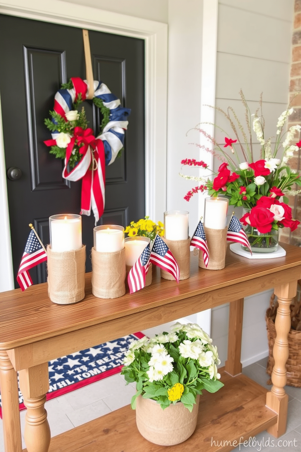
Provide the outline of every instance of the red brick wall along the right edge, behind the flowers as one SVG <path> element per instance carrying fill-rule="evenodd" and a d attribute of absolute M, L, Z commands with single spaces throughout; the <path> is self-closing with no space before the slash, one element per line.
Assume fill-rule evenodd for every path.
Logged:
<path fill-rule="evenodd" d="M 294 28 L 292 32 L 292 62 L 290 75 L 290 102 L 294 107 L 294 113 L 289 117 L 288 127 L 295 124 L 301 124 L 301 0 L 295 0 Z M 299 141 L 296 136 L 296 141 Z M 292 144 L 295 144 L 294 141 Z M 289 166 L 292 170 L 301 171 L 301 155 L 292 157 L 289 160 Z M 295 189 L 300 187 L 295 187 Z M 289 196 L 289 205 L 292 207 L 292 216 L 301 221 L 301 193 L 296 196 Z M 283 228 L 280 231 L 280 240 L 301 246 L 301 225 L 296 231 L 291 232 L 289 228 Z"/>

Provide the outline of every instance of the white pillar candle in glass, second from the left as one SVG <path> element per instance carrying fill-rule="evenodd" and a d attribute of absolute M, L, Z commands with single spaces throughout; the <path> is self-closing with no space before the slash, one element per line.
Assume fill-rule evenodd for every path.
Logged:
<path fill-rule="evenodd" d="M 103 225 L 94 228 L 94 249 L 96 251 L 114 253 L 123 250 L 124 247 L 124 228 L 122 226 Z"/>

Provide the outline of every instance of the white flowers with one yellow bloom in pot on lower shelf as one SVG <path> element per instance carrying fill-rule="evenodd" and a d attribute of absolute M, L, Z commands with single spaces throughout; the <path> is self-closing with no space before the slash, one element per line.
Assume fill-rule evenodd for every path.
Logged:
<path fill-rule="evenodd" d="M 133 342 L 125 353 L 121 371 L 127 384 L 136 381 L 132 408 L 141 394 L 145 399 L 156 400 L 163 410 L 181 401 L 191 412 L 203 389 L 218 391 L 224 385 L 219 381 L 217 347 L 211 343 L 199 325 L 180 323 L 171 327 L 171 333 Z"/>

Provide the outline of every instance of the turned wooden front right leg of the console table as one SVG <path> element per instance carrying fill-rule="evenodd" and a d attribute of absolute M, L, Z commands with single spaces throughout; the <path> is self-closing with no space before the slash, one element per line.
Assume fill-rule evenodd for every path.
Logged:
<path fill-rule="evenodd" d="M 266 406 L 278 413 L 276 424 L 268 428 L 268 432 L 275 438 L 283 435 L 287 428 L 288 395 L 284 390 L 287 382 L 285 364 L 288 358 L 287 335 L 291 329 L 290 304 L 297 291 L 297 282 L 289 282 L 275 287 L 274 293 L 278 298 L 277 315 L 275 319 L 276 338 L 273 347 L 275 364 L 272 372 L 272 389 L 267 393 Z"/>

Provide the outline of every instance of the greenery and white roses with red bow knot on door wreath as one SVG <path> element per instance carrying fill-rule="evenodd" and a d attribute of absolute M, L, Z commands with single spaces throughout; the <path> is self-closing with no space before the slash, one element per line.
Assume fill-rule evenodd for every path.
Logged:
<path fill-rule="evenodd" d="M 73 89 L 73 81 L 69 80 L 68 83 L 63 83 L 61 85 L 61 89 Z M 77 108 L 79 108 L 79 104 L 83 102 L 82 94 L 79 93 L 74 100 L 73 110 L 69 110 L 65 113 L 65 118 L 63 118 L 56 111 L 50 111 L 49 114 L 52 119 L 46 118 L 44 120 L 44 124 L 50 130 L 50 132 L 59 132 L 56 135 L 55 141 L 50 148 L 50 154 L 56 156 L 57 159 L 65 159 L 66 156 L 66 148 L 69 145 L 72 137 L 74 137 L 74 144 L 72 149 L 72 154 L 69 158 L 69 166 L 70 168 L 74 168 L 77 162 L 82 158 L 81 147 L 85 146 L 86 142 L 95 141 L 95 137 L 93 134 L 93 130 L 88 128 L 88 122 L 86 118 L 86 113 L 84 108 L 81 108 L 79 112 Z M 101 131 L 107 125 L 110 119 L 110 109 L 107 108 L 102 99 L 97 97 L 93 98 L 93 104 L 96 105 L 100 109 L 102 113 L 102 124 L 100 126 Z M 100 133 L 101 133 L 100 131 Z"/>

